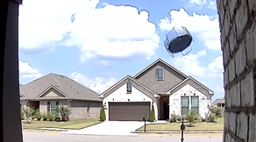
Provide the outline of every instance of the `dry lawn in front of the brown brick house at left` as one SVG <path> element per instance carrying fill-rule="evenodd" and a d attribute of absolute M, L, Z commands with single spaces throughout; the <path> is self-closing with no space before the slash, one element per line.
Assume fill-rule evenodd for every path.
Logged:
<path fill-rule="evenodd" d="M 68 122 L 33 121 L 32 124 L 22 123 L 26 128 L 59 128 L 59 129 L 82 129 L 90 125 L 100 123 L 99 119 L 71 120 Z"/>

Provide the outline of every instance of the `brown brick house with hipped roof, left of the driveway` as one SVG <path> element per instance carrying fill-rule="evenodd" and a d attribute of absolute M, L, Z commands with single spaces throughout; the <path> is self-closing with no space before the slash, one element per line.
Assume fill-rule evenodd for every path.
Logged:
<path fill-rule="evenodd" d="M 95 91 L 55 73 L 19 87 L 21 105 L 39 109 L 42 114 L 54 114 L 58 105 L 69 105 L 71 120 L 98 118 L 103 104 Z"/>

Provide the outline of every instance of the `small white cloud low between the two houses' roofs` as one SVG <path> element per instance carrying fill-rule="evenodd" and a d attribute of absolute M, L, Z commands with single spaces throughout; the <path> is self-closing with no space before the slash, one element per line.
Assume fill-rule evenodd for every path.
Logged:
<path fill-rule="evenodd" d="M 73 72 L 71 74 L 71 77 L 81 83 L 82 85 L 85 85 L 86 87 L 89 87 L 89 89 L 96 91 L 98 93 L 102 93 L 103 91 L 110 88 L 111 85 L 114 85 L 117 83 L 117 80 L 115 78 L 109 78 L 108 80 L 104 78 L 87 78 L 83 76 L 81 73 Z"/>

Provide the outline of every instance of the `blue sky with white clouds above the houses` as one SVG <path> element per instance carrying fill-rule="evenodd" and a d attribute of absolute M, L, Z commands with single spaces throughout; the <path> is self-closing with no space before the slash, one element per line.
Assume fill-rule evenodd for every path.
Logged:
<path fill-rule="evenodd" d="M 224 97 L 216 0 L 24 0 L 18 25 L 21 85 L 53 72 L 101 93 L 161 58 Z M 179 26 L 194 41 L 171 57 Z"/>

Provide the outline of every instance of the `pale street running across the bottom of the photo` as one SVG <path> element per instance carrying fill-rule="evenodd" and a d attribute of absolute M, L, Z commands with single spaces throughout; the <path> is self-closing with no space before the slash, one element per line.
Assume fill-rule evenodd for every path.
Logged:
<path fill-rule="evenodd" d="M 184 135 L 184 142 L 221 142 L 221 134 L 196 134 Z M 69 135 L 58 132 L 23 132 L 24 142 L 167 142 L 181 141 L 178 134 L 142 134 L 139 136 L 92 136 L 92 135 Z"/>

